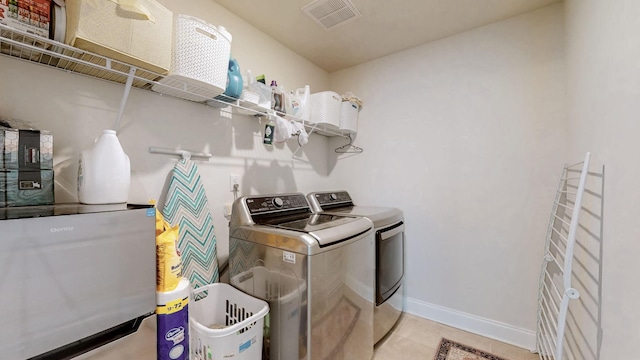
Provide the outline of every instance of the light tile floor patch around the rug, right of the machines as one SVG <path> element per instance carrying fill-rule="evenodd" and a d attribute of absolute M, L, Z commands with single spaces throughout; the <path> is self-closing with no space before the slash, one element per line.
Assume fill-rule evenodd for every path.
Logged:
<path fill-rule="evenodd" d="M 442 338 L 472 346 L 507 360 L 538 359 L 538 355 L 529 350 L 406 313 L 402 314 L 391 333 L 376 345 L 373 359 L 432 360 Z"/>

